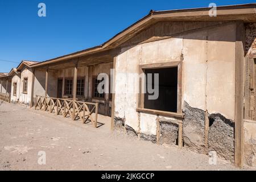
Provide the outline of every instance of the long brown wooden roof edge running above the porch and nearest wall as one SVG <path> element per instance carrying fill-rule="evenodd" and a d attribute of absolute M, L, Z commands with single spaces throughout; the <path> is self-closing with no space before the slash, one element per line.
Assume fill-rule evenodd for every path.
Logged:
<path fill-rule="evenodd" d="M 132 24 L 119 34 L 115 35 L 112 39 L 104 44 L 85 49 L 79 52 L 71 53 L 61 57 L 56 57 L 51 60 L 43 61 L 31 65 L 32 67 L 42 67 L 44 65 L 58 63 L 63 60 L 75 59 L 76 57 L 90 55 L 92 53 L 105 51 L 108 49 L 117 48 L 123 42 L 129 40 L 134 34 L 143 30 L 159 21 L 163 20 L 195 20 L 195 21 L 243 21 L 243 22 L 256 22 L 256 3 L 245 5 L 232 5 L 232 6 L 218 6 L 217 16 L 209 16 L 210 7 L 197 8 L 197 9 L 181 9 L 181 10 L 167 10 L 167 11 L 151 11 L 150 14 L 144 16 L 138 22 Z"/>

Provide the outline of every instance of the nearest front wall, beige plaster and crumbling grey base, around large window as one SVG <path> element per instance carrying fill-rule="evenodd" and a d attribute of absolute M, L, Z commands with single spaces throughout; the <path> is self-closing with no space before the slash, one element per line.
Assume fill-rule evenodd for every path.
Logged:
<path fill-rule="evenodd" d="M 158 24 L 158 28 L 150 28 L 149 35 L 154 38 L 167 33 L 171 35 L 166 30 L 166 22 L 163 23 L 163 31 L 159 27 L 161 26 Z M 136 111 L 137 94 L 132 93 L 132 90 L 138 89 L 139 82 L 127 77 L 126 73 L 138 73 L 140 64 L 182 61 L 184 146 L 203 154 L 214 150 L 221 158 L 233 160 L 236 24 L 220 23 L 211 26 L 205 25 L 205 22 L 178 22 L 171 30 L 180 30 L 180 34 L 175 32 L 170 38 L 145 41 L 133 46 L 129 43 L 127 45 L 130 46 L 124 46 L 117 56 L 115 128 L 123 126 L 126 131 L 155 142 L 157 115 Z M 147 39 L 152 37 L 147 36 Z M 137 37 L 143 41 L 144 38 Z M 207 142 L 205 115 L 208 115 L 211 121 Z M 170 143 L 171 140 L 175 143 L 176 123 L 180 119 L 161 115 L 159 117 L 164 118 L 163 121 L 160 120 L 160 141 Z M 168 122 L 165 122 L 166 120 Z M 205 143 L 209 147 L 205 146 Z"/>

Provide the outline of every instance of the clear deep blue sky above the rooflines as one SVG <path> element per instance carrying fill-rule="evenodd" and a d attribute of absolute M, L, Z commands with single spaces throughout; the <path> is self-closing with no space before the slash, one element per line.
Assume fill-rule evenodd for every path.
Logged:
<path fill-rule="evenodd" d="M 46 17 L 38 4 L 46 4 Z M 254 3 L 240 0 L 1 0 L 0 72 L 98 46 L 152 10 Z"/>

